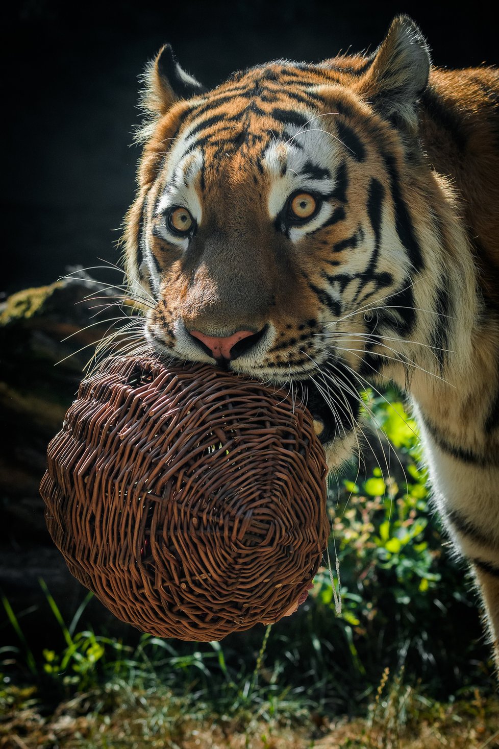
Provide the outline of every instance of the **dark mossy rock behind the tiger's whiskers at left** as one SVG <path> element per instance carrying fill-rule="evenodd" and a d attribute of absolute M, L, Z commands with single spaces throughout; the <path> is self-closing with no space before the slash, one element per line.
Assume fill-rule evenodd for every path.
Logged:
<path fill-rule="evenodd" d="M 100 303 L 95 297 L 112 304 L 113 294 L 82 273 L 18 291 L 0 306 L 0 418 L 9 435 L 0 461 L 0 497 L 7 509 L 14 497 L 41 503 L 37 486 L 46 446 L 61 428 L 94 344 L 108 329 L 105 319 L 99 324 L 94 316 Z"/>

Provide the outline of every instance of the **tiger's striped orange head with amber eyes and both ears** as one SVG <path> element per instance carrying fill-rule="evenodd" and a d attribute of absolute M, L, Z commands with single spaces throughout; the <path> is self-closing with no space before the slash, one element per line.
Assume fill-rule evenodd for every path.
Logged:
<path fill-rule="evenodd" d="M 276 61 L 212 91 L 163 47 L 126 218 L 126 270 L 157 351 L 301 383 L 321 439 L 348 442 L 359 390 L 397 357 L 385 339 L 415 324 L 428 76 L 403 16 L 370 57 Z"/>

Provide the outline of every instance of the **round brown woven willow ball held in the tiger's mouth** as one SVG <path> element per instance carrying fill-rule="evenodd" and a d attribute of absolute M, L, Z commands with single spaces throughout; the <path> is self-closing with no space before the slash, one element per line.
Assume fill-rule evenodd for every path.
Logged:
<path fill-rule="evenodd" d="M 304 598 L 328 539 L 325 474 L 286 392 L 121 357 L 82 382 L 40 491 L 70 571 L 115 616 L 220 640 Z"/>

